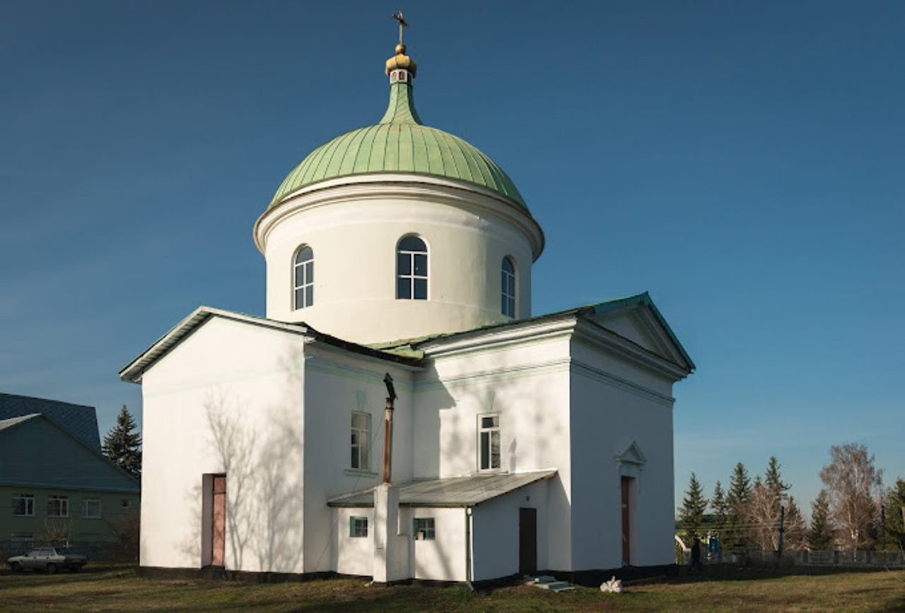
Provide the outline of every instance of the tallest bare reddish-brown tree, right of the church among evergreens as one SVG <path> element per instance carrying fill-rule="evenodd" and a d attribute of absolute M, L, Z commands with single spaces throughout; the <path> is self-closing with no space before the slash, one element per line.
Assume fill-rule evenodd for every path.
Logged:
<path fill-rule="evenodd" d="M 874 496 L 882 483 L 882 469 L 873 466 L 873 455 L 857 443 L 830 448 L 831 462 L 820 471 L 830 496 L 830 511 L 842 541 L 852 549 L 872 545 L 876 521 Z"/>

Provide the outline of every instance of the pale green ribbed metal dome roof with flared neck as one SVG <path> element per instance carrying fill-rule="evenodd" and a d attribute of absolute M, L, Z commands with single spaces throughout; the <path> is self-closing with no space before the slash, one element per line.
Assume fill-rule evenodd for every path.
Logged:
<path fill-rule="evenodd" d="M 340 176 L 375 173 L 430 174 L 481 185 L 528 211 L 509 175 L 462 138 L 424 126 L 412 86 L 390 85 L 390 102 L 374 126 L 352 130 L 319 146 L 280 185 L 270 206 L 306 185 Z"/>

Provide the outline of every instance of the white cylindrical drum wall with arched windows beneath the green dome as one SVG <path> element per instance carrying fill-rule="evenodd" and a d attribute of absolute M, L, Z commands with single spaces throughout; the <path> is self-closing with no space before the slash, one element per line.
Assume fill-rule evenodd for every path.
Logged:
<path fill-rule="evenodd" d="M 272 219 L 259 231 L 269 318 L 304 321 L 365 344 L 507 321 L 500 313 L 506 256 L 516 265 L 517 316 L 530 316 L 533 250 L 539 254 L 540 247 L 512 221 L 537 228 L 527 213 L 486 194 L 392 179 L 373 189 L 338 184 L 314 190 L 262 217 Z M 427 300 L 395 298 L 396 244 L 409 234 L 429 251 Z M 535 243 L 538 237 L 539 228 Z M 295 310 L 292 264 L 302 245 L 314 252 L 314 304 Z"/>

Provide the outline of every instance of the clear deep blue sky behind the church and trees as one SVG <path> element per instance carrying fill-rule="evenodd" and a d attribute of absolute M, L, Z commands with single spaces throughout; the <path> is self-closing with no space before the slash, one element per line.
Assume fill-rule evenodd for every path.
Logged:
<path fill-rule="evenodd" d="M 0 2 L 0 391 L 98 408 L 195 307 L 264 312 L 252 224 L 311 149 L 376 122 L 397 5 Z M 542 314 L 649 290 L 677 503 L 831 445 L 905 476 L 905 4 L 419 2 L 425 123 L 547 234 Z"/>

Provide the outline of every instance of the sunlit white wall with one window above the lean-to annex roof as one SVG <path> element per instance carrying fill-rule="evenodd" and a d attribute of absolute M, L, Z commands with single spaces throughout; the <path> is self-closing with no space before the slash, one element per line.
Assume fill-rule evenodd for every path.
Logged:
<path fill-rule="evenodd" d="M 548 514 L 538 529 L 550 542 L 549 568 L 571 570 L 567 335 L 437 359 L 415 386 L 414 476 L 478 470 L 478 416 L 500 415 L 501 470 L 557 469 Z"/>

